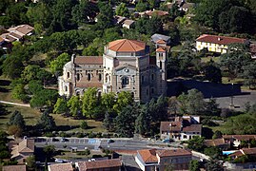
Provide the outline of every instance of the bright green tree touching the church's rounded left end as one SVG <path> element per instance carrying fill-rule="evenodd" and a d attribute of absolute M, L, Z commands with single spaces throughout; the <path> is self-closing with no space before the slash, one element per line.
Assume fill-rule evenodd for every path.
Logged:
<path fill-rule="evenodd" d="M 55 76 L 57 77 L 60 73 L 62 73 L 63 66 L 66 65 L 69 61 L 69 54 L 62 53 L 55 60 L 49 63 L 50 72 L 55 74 Z"/>

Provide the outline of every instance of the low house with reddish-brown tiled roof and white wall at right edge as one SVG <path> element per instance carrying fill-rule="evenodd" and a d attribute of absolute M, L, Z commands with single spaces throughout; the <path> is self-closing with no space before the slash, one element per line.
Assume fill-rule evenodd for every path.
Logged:
<path fill-rule="evenodd" d="M 242 141 L 250 142 L 256 140 L 256 135 L 223 135 L 226 142 L 230 142 L 235 147 L 239 147 Z"/>

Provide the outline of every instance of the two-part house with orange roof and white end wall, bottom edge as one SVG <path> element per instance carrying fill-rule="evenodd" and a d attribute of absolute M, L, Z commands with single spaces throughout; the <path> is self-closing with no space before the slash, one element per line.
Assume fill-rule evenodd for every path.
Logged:
<path fill-rule="evenodd" d="M 170 164 L 174 170 L 185 170 L 191 160 L 191 152 L 185 149 L 144 149 L 135 155 L 135 161 L 143 171 L 164 171 Z"/>

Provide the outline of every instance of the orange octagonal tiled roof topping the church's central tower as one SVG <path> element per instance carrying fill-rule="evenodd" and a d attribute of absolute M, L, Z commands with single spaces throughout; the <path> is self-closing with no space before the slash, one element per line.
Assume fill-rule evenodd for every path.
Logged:
<path fill-rule="evenodd" d="M 128 39 L 116 40 L 108 44 L 108 49 L 113 51 L 136 52 L 145 48 L 146 44 L 144 42 Z"/>

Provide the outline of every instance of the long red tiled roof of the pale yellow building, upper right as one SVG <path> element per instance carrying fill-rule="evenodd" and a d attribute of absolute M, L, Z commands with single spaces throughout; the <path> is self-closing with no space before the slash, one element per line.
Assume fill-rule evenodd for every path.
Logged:
<path fill-rule="evenodd" d="M 196 39 L 196 41 L 219 44 L 219 45 L 229 45 L 229 44 L 234 44 L 234 43 L 244 44 L 246 42 L 246 39 L 203 34 L 200 37 L 198 37 Z"/>

